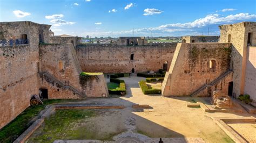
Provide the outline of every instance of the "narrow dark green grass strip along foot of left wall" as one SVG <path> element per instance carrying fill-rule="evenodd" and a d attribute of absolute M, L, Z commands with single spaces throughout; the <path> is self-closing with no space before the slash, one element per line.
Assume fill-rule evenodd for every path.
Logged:
<path fill-rule="evenodd" d="M 13 142 L 19 137 L 32 123 L 30 121 L 35 118 L 46 105 L 52 103 L 68 102 L 73 100 L 51 99 L 43 101 L 44 105 L 29 106 L 8 125 L 0 130 L 0 142 Z"/>

